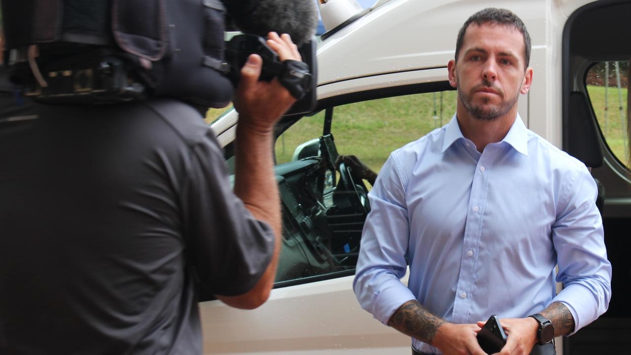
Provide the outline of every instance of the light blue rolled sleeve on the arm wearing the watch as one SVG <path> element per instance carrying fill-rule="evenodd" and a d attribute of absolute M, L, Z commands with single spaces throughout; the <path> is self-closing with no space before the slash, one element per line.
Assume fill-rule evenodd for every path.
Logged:
<path fill-rule="evenodd" d="M 604 246 L 603 221 L 596 207 L 598 189 L 581 166 L 573 172 L 557 208 L 552 238 L 557 251 L 557 281 L 564 289 L 553 302 L 574 317 L 574 334 L 602 315 L 611 299 L 611 263 Z"/>

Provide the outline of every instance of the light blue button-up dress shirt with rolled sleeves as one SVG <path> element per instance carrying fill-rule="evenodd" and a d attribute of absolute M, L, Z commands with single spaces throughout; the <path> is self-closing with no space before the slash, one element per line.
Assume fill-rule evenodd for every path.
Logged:
<path fill-rule="evenodd" d="M 611 298 L 596 195 L 585 165 L 521 117 L 480 153 L 454 115 L 392 152 L 379 172 L 353 282 L 357 299 L 384 324 L 411 299 L 452 323 L 521 318 L 558 301 L 579 330 Z M 406 258 L 408 287 L 399 280 Z M 556 281 L 564 285 L 559 294 Z M 416 339 L 413 346 L 439 352 Z"/>

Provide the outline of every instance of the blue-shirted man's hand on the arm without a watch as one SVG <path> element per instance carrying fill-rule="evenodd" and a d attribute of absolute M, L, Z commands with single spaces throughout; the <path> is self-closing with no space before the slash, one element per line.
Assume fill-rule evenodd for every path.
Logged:
<path fill-rule="evenodd" d="M 438 328 L 432 346 L 439 348 L 445 355 L 486 355 L 478 344 L 478 332 L 480 327 L 475 324 L 444 323 Z"/>

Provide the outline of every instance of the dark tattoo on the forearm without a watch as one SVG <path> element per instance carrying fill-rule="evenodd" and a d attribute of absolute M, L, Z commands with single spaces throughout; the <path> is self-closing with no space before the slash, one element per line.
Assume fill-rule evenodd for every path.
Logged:
<path fill-rule="evenodd" d="M 438 328 L 445 320 L 433 315 L 416 300 L 401 305 L 388 320 L 388 326 L 422 342 L 432 344 Z"/>

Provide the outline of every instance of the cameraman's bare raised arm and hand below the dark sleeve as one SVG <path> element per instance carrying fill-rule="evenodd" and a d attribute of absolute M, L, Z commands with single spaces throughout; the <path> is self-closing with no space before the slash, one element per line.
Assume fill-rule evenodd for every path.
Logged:
<path fill-rule="evenodd" d="M 266 44 L 281 61 L 300 61 L 298 47 L 289 35 L 280 37 L 270 32 Z M 274 174 L 274 125 L 296 101 L 281 83 L 260 81 L 262 58 L 251 54 L 241 68 L 241 78 L 235 93 L 235 109 L 239 112 L 235 141 L 235 195 L 258 220 L 268 222 L 274 231 L 274 252 L 268 268 L 254 289 L 242 296 L 220 298 L 240 308 L 256 308 L 268 299 L 274 286 L 276 265 L 281 249 L 281 214 L 278 184 Z"/>

